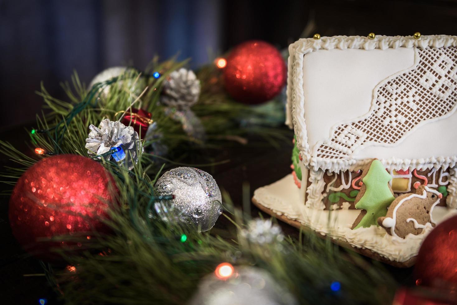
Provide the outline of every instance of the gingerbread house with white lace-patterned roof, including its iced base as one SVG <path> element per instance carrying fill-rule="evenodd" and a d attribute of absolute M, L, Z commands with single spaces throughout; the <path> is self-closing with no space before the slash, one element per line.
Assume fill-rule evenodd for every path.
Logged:
<path fill-rule="evenodd" d="M 288 59 L 293 173 L 257 189 L 253 201 L 363 254 L 409 266 L 435 224 L 406 238 L 380 226 L 351 229 L 362 169 L 377 158 L 394 197 L 420 185 L 439 192 L 430 211 L 436 223 L 456 214 L 456 105 L 457 37 L 301 39 Z"/>

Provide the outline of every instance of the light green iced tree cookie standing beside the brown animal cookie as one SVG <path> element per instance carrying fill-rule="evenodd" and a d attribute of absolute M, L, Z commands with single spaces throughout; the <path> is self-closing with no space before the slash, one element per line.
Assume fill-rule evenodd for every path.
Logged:
<path fill-rule="evenodd" d="M 386 171 L 377 159 L 363 168 L 361 180 L 363 182 L 356 197 L 356 209 L 362 209 L 352 229 L 376 225 L 377 218 L 386 216 L 387 208 L 395 199 L 389 181 L 392 176 Z"/>

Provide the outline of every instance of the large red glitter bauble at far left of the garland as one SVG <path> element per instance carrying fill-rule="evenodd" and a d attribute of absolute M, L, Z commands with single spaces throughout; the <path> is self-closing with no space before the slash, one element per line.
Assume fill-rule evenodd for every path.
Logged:
<path fill-rule="evenodd" d="M 116 194 L 112 175 L 100 163 L 78 155 L 44 158 L 27 169 L 13 190 L 9 210 L 13 234 L 43 258 L 42 252 L 56 246 L 46 242 L 51 237 L 87 232 L 90 239 L 90 231 L 105 231 L 102 219 Z"/>

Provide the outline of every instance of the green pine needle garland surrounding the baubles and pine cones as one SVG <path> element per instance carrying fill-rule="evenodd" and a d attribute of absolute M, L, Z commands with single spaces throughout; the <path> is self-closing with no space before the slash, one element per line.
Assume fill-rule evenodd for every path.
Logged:
<path fill-rule="evenodd" d="M 26 131 L 31 137 L 30 152 L 18 151 L 10 143 L 0 141 L 2 152 L 17 164 L 6 168 L 2 175 L 11 186 L 27 168 L 48 158 L 47 155 L 30 157 L 35 147 L 49 153 L 87 157 L 85 138 L 89 125 L 98 126 L 105 118 L 119 120 L 120 111 L 131 107 L 152 113 L 158 131 L 163 134 L 160 141 L 169 147 L 167 158 L 138 152 L 138 164 L 131 171 L 116 162 L 95 158 L 114 176 L 119 189 L 116 202 L 120 204 L 112 205 L 109 220 L 105 220 L 111 234 L 90 232 L 59 237 L 59 240 L 81 242 L 77 251 L 56 249 L 75 271 L 43 264 L 49 283 L 64 303 L 186 304 L 197 291 L 202 277 L 214 272 L 221 262 L 230 262 L 235 268 L 255 265 L 268 270 L 300 304 L 335 304 L 348 300 L 352 304 L 389 303 L 397 283 L 380 264 L 367 263 L 356 253 L 342 250 L 311 233 L 302 232 L 298 240 L 289 237 L 279 246 L 252 243 L 239 234 L 249 220 L 249 212 L 234 208 L 226 194 L 223 217 L 233 226 L 227 231 L 213 230 L 213 234 L 218 232 L 218 235 L 198 233 L 186 222 L 179 221 L 179 213 L 170 211 L 164 219 L 154 210 L 155 203 L 167 204 L 166 200 L 157 199 L 153 187 L 166 169 L 164 161 L 168 165 L 183 164 L 186 154 L 202 147 L 199 145 L 220 148 L 220 143 L 245 144 L 248 136 L 276 147 L 284 141 L 290 142 L 287 133 L 274 128 L 282 120 L 282 116 L 274 115 L 282 113 L 281 102 L 261 107 L 236 103 L 224 92 L 218 81 L 220 71 L 212 66 L 197 72 L 202 93 L 192 108 L 202 120 L 208 142 L 198 144 L 189 139 L 182 126 L 166 116 L 158 103 L 164 79 L 185 64 L 174 59 L 159 63 L 154 58 L 144 74 L 128 70 L 89 91 L 75 73 L 71 85 L 62 84 L 67 101 L 53 98 L 42 85 L 38 94 L 49 112 L 37 116 L 34 132 Z M 154 71 L 161 71 L 159 79 L 149 76 Z M 145 79 L 148 89 L 135 96 L 130 86 L 140 78 Z M 110 84 L 111 89 L 105 97 L 98 90 L 106 84 Z M 206 165 L 215 164 L 218 163 Z M 87 239 L 87 235 L 91 238 Z M 330 289 L 333 282 L 341 284 L 337 293 Z"/>

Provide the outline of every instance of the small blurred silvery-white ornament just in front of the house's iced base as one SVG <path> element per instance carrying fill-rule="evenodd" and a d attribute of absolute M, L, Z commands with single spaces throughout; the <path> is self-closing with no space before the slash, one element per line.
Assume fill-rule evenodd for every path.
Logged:
<path fill-rule="evenodd" d="M 268 220 L 258 218 L 249 221 L 248 227 L 242 230 L 241 234 L 255 244 L 273 244 L 284 240 L 281 228 L 273 224 L 271 218 Z"/>

